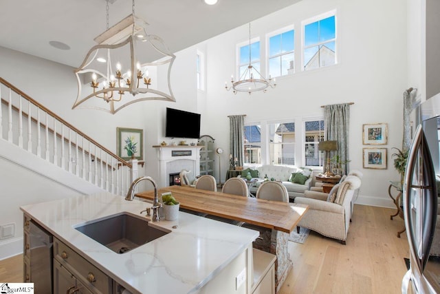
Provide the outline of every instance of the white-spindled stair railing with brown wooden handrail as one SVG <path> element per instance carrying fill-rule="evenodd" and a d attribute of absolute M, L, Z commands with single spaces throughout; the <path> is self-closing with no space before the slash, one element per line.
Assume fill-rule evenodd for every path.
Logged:
<path fill-rule="evenodd" d="M 0 139 L 111 193 L 125 195 L 133 181 L 130 162 L 113 154 L 3 78 L 0 78 Z"/>

